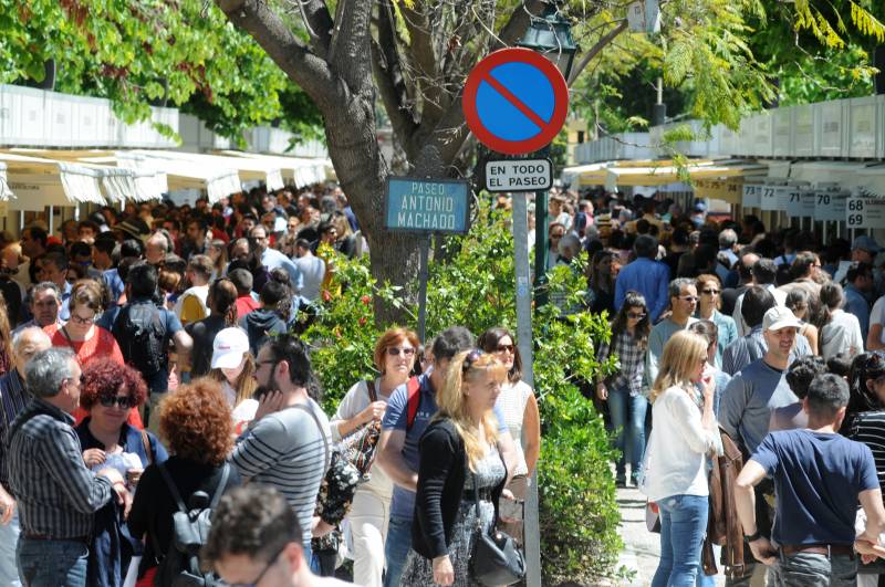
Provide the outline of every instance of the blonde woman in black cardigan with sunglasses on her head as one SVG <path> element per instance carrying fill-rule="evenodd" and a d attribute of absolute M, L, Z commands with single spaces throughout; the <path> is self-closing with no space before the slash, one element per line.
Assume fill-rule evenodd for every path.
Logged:
<path fill-rule="evenodd" d="M 420 440 L 413 549 L 402 585 L 479 585 L 469 573 L 477 525 L 491 530 L 507 481 L 492 413 L 506 381 L 507 367 L 494 355 L 473 349 L 451 360 L 439 412 Z"/>

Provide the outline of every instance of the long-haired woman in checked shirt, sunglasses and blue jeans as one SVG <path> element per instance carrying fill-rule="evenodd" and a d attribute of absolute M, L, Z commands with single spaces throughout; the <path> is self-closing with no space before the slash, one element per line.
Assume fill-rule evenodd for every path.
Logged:
<path fill-rule="evenodd" d="M 633 483 L 639 474 L 639 463 L 645 451 L 645 412 L 648 409 L 645 378 L 645 355 L 648 350 L 648 335 L 652 321 L 645 297 L 633 290 L 624 296 L 624 305 L 612 323 L 611 343 L 600 346 L 600 361 L 616 355 L 620 369 L 596 384 L 596 397 L 608 402 L 612 428 L 615 429 L 615 447 L 621 452 L 615 470 L 615 483 L 626 486 L 626 462 L 629 453 L 629 469 Z"/>

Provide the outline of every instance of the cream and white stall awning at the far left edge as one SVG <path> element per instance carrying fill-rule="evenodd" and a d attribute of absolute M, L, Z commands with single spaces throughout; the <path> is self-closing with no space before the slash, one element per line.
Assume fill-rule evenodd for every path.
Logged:
<path fill-rule="evenodd" d="M 102 197 L 102 171 L 77 164 L 0 153 L 7 166 L 7 187 L 15 195 L 12 210 L 42 211 L 46 206 L 106 203 Z"/>

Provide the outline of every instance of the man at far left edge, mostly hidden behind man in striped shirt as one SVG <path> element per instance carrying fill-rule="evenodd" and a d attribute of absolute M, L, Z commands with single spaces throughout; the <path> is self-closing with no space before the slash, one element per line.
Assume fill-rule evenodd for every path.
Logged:
<path fill-rule="evenodd" d="M 38 326 L 20 331 L 12 337 L 12 366 L 0 377 L 0 585 L 18 587 L 15 545 L 19 542 L 19 516 L 15 501 L 7 492 L 9 479 L 6 465 L 7 431 L 30 399 L 24 389 L 24 367 L 37 353 L 52 346 L 49 335 Z"/>

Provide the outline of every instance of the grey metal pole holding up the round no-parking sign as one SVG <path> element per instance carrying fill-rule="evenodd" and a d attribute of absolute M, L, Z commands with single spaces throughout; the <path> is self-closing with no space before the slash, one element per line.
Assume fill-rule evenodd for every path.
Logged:
<path fill-rule="evenodd" d="M 513 251 L 517 268 L 517 343 L 522 357 L 522 379 L 534 388 L 532 364 L 532 287 L 529 266 L 529 217 L 525 192 L 513 195 Z M 537 227 L 535 227 L 537 230 Z M 520 442 L 514 438 L 513 442 Z M 541 586 L 541 532 L 538 522 L 538 473 L 532 475 L 525 497 L 523 536 L 525 585 Z"/>

